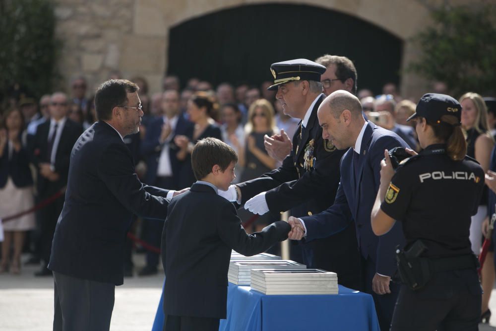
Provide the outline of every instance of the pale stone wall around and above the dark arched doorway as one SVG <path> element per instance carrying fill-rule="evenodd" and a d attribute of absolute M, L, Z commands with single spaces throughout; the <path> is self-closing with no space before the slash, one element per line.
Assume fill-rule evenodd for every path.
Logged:
<path fill-rule="evenodd" d="M 140 75 L 150 92 L 160 90 L 166 71 L 168 31 L 217 10 L 254 3 L 297 3 L 298 0 L 59 0 L 57 33 L 63 40 L 60 69 L 65 87 L 71 77 L 83 74 L 90 90 L 113 70 L 124 77 Z M 411 38 L 429 24 L 427 7 L 414 0 L 307 0 L 304 3 L 341 11 L 369 21 L 405 41 L 403 67 L 418 57 Z M 419 97 L 427 83 L 403 73 L 402 93 Z"/>

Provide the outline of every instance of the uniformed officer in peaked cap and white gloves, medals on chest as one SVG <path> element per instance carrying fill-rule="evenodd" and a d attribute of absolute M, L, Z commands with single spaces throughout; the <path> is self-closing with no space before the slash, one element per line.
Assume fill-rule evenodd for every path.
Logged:
<path fill-rule="evenodd" d="M 283 104 L 284 113 L 302 120 L 293 137 L 293 150 L 278 169 L 230 187 L 228 199 L 234 200 L 236 194 L 232 193 L 239 190 L 238 202 L 246 202 L 247 209 L 258 214 L 270 211 L 274 217 L 288 209 L 293 216 L 311 215 L 332 203 L 339 184 L 339 160 L 345 151 L 322 139 L 318 126 L 317 109 L 324 99 L 320 75 L 325 70 L 325 66 L 305 59 L 271 66 L 275 84 L 269 88 L 277 89 L 276 98 Z M 303 245 L 303 262 L 308 267 L 336 272 L 344 286 L 360 288 L 353 226 L 332 238 L 322 237 Z"/>

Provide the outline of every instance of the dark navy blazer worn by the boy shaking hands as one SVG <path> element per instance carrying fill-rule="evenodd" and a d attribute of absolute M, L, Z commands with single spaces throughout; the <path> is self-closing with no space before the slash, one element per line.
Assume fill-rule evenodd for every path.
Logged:
<path fill-rule="evenodd" d="M 172 199 L 164 224 L 164 313 L 225 319 L 231 250 L 246 256 L 262 253 L 285 240 L 290 230 L 278 221 L 247 234 L 231 202 L 208 185 L 193 184 Z"/>

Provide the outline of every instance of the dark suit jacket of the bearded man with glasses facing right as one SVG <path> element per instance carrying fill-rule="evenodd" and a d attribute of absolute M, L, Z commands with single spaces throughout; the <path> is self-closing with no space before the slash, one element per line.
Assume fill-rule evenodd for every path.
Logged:
<path fill-rule="evenodd" d="M 105 122 L 93 124 L 72 148 L 49 269 L 123 284 L 124 239 L 132 214 L 165 219 L 167 192 L 141 184 L 119 133 Z"/>

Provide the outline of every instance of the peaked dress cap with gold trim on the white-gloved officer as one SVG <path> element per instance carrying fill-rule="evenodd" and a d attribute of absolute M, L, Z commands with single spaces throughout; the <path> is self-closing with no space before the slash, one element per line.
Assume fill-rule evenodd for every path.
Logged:
<path fill-rule="evenodd" d="M 274 77 L 274 84 L 268 90 L 277 90 L 277 87 L 295 80 L 320 81 L 320 75 L 326 70 L 325 66 L 307 59 L 296 59 L 273 63 L 270 72 Z"/>

